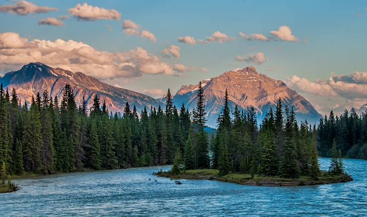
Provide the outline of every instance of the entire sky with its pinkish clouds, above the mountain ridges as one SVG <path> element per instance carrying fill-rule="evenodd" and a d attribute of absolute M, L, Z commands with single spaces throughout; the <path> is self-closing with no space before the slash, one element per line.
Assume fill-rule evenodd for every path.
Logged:
<path fill-rule="evenodd" d="M 0 0 L 0 75 L 41 62 L 154 98 L 236 68 L 322 114 L 367 103 L 363 0 Z"/>

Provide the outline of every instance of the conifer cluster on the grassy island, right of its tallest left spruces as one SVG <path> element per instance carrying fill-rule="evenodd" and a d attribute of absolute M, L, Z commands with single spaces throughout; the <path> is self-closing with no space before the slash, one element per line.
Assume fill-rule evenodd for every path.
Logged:
<path fill-rule="evenodd" d="M 230 114 L 225 92 L 211 150 L 212 167 L 220 175 L 235 172 L 317 179 L 319 174 L 315 127 L 307 123 L 298 127 L 293 108 L 283 106 L 281 99 L 276 111 L 271 109 L 258 127 L 254 108 L 239 111 L 236 106 Z M 191 169 L 186 161 L 187 157 L 185 167 Z"/>

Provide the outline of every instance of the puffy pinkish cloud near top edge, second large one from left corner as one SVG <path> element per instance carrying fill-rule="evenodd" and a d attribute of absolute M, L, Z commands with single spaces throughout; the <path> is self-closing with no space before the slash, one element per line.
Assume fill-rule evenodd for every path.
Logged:
<path fill-rule="evenodd" d="M 87 3 L 76 4 L 75 7 L 70 8 L 69 13 L 78 20 L 95 21 L 95 20 L 120 20 L 121 13 L 115 9 L 105 9 L 88 5 Z"/>

